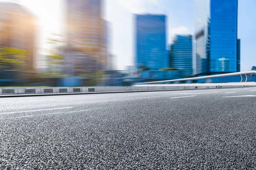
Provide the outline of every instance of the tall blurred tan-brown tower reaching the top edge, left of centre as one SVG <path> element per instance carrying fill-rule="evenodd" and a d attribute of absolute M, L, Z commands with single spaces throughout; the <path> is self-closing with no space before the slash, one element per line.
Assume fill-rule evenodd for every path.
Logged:
<path fill-rule="evenodd" d="M 102 0 L 66 0 L 66 37 L 67 49 L 65 53 L 69 54 L 68 60 L 78 61 L 79 70 L 75 72 L 91 72 L 88 69 L 101 70 L 99 64 L 86 67 L 87 60 L 104 64 L 104 20 L 102 19 Z M 91 62 L 90 62 L 91 63 Z M 84 65 L 84 67 L 82 66 Z M 76 66 L 75 66 L 76 67 Z M 82 68 L 83 67 L 83 68 Z M 77 67 L 76 67 L 77 68 Z M 75 73 L 76 74 L 76 73 Z"/>

